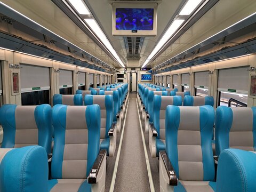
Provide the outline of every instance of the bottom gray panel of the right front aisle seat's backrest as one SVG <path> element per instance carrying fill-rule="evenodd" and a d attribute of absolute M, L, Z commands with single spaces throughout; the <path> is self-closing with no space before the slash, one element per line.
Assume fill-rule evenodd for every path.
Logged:
<path fill-rule="evenodd" d="M 179 179 L 187 181 L 203 181 L 203 162 L 180 162 Z"/>

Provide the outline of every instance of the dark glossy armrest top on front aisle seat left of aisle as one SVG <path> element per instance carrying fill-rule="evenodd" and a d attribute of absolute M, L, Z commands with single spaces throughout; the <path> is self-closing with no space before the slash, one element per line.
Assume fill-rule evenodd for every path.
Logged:
<path fill-rule="evenodd" d="M 89 173 L 89 176 L 87 178 L 87 181 L 89 184 L 97 183 L 97 175 L 99 173 L 99 170 L 100 170 L 101 164 L 104 160 L 104 157 L 106 156 L 106 153 L 107 153 L 106 149 L 100 150 L 100 153 L 99 153 L 97 159 L 95 160 L 95 162 L 92 166 L 92 169 Z"/>

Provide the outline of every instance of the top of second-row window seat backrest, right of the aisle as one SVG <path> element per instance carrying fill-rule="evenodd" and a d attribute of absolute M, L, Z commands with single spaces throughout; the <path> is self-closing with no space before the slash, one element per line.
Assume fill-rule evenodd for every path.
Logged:
<path fill-rule="evenodd" d="M 213 107 L 214 99 L 212 96 L 199 97 L 186 95 L 183 99 L 183 106 L 203 106 L 210 105 Z"/>

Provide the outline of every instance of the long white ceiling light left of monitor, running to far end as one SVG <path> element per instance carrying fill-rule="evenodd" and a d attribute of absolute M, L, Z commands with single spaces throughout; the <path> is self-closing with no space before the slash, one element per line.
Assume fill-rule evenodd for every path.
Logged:
<path fill-rule="evenodd" d="M 93 30 L 94 34 L 98 36 L 100 41 L 105 45 L 106 49 L 115 57 L 115 59 L 120 63 L 122 67 L 125 67 L 121 59 L 118 57 L 116 51 L 114 50 L 113 46 L 108 41 L 108 38 L 101 30 L 100 26 L 94 19 L 85 19 L 85 22 L 89 27 Z"/>

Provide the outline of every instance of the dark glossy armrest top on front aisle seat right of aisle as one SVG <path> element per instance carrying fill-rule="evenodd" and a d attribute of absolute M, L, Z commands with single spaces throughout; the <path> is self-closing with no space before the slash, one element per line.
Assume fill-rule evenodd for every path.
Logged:
<path fill-rule="evenodd" d="M 164 166 L 165 166 L 165 171 L 169 177 L 169 185 L 170 186 L 178 186 L 178 178 L 177 175 L 173 169 L 172 163 L 170 162 L 166 152 L 164 150 L 159 151 L 159 155 L 161 155 Z"/>

